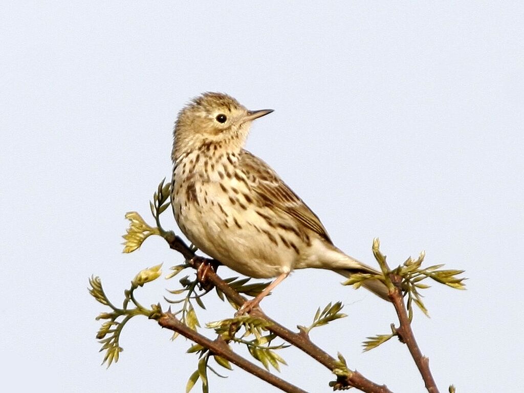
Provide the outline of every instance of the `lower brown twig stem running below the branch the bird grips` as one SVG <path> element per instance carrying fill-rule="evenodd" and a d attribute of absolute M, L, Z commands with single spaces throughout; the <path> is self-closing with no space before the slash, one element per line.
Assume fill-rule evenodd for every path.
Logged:
<path fill-rule="evenodd" d="M 195 332 L 194 330 L 188 328 L 180 322 L 171 312 L 162 313 L 158 319 L 158 324 L 162 328 L 170 329 L 174 332 L 178 332 L 184 337 L 187 337 L 191 341 L 202 345 L 205 348 L 209 348 L 211 353 L 218 355 L 227 359 L 233 364 L 236 364 L 238 367 L 246 370 L 248 373 L 253 374 L 254 376 L 266 381 L 267 383 L 276 386 L 277 388 L 287 391 L 289 393 L 307 393 L 305 390 L 300 389 L 297 386 L 291 385 L 287 381 L 277 377 L 266 371 L 263 368 L 258 367 L 257 365 L 249 362 L 242 356 L 236 354 L 231 350 L 231 348 L 224 342 L 224 340 L 216 339 L 210 340 L 208 337 L 203 336 Z"/>

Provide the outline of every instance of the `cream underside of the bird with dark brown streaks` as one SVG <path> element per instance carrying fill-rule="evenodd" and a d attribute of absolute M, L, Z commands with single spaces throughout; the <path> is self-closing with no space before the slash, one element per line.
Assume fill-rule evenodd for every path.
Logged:
<path fill-rule="evenodd" d="M 195 183 L 193 193 L 179 194 L 181 198 L 173 200 L 177 222 L 204 253 L 249 277 L 276 277 L 292 270 L 296 251 L 282 243 L 277 229 L 245 199 L 214 182 Z"/>

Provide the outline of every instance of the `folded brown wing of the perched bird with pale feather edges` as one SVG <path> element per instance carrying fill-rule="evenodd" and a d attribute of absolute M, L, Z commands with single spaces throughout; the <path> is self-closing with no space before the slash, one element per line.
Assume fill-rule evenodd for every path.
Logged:
<path fill-rule="evenodd" d="M 328 232 L 320 222 L 319 217 L 280 179 L 267 163 L 252 155 L 249 151 L 244 151 L 239 163 L 244 170 L 249 188 L 256 195 L 258 204 L 277 208 L 331 243 Z"/>

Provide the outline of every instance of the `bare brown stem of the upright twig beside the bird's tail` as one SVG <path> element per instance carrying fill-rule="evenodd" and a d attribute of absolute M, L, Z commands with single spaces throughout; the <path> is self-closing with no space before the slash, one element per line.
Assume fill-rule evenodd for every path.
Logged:
<path fill-rule="evenodd" d="M 402 277 L 395 274 L 390 274 L 389 278 L 395 286 L 394 290 L 390 290 L 389 298 L 395 306 L 395 311 L 397 312 L 398 320 L 400 322 L 400 326 L 396 328 L 396 333 L 400 341 L 408 346 L 411 357 L 413 357 L 413 360 L 419 369 L 420 375 L 424 380 L 424 384 L 426 389 L 428 389 L 428 392 L 439 393 L 439 389 L 436 387 L 435 380 L 433 379 L 433 375 L 431 374 L 431 370 L 429 368 L 429 358 L 422 355 L 417 341 L 415 340 L 413 330 L 411 329 L 411 322 L 409 320 L 404 297 L 402 296 L 402 291 L 400 289 Z"/>

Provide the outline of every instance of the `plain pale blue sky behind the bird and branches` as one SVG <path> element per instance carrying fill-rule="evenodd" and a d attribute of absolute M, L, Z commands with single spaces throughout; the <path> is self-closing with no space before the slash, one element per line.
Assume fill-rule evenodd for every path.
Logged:
<path fill-rule="evenodd" d="M 522 368 L 524 6 L 520 2 L 6 2 L 0 15 L 0 360 L 4 391 L 182 392 L 190 343 L 136 318 L 109 369 L 94 318 L 99 275 L 112 300 L 140 270 L 182 262 L 160 238 L 122 254 L 127 222 L 170 177 L 172 126 L 203 91 L 231 94 L 256 121 L 247 148 L 320 217 L 334 243 L 390 265 L 465 269 L 467 291 L 424 292 L 413 329 L 441 389 L 517 392 Z M 178 234 L 167 211 L 163 222 Z M 188 274 L 190 272 L 188 270 Z M 234 273 L 222 267 L 223 277 Z M 294 329 L 342 301 L 348 318 L 312 332 L 333 356 L 395 392 L 423 383 L 388 333 L 394 309 L 296 271 L 262 303 Z M 137 297 L 163 302 L 178 280 Z M 233 309 L 211 296 L 202 323 Z M 203 329 L 204 331 L 205 329 Z M 213 337 L 212 331 L 205 332 Z M 245 351 L 242 350 L 243 354 Z M 280 352 L 280 376 L 331 391 L 329 370 Z M 277 391 L 235 367 L 211 392 Z M 201 391 L 200 385 L 194 392 Z"/>

